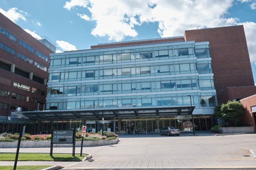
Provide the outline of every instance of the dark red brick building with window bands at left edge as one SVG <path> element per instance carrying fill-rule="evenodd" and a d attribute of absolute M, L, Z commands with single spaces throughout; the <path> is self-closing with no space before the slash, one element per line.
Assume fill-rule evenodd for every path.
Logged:
<path fill-rule="evenodd" d="M 55 49 L 47 48 L 0 13 L 0 131 L 15 132 L 21 122 L 28 121 L 8 120 L 16 108 L 44 109 L 49 54 Z"/>

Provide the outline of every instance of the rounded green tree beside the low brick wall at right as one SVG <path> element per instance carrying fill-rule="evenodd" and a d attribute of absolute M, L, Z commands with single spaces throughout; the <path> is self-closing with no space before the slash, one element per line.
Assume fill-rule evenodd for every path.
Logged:
<path fill-rule="evenodd" d="M 228 101 L 214 108 L 216 117 L 223 119 L 227 126 L 237 126 L 242 120 L 243 113 L 245 113 L 245 108 L 239 101 Z"/>

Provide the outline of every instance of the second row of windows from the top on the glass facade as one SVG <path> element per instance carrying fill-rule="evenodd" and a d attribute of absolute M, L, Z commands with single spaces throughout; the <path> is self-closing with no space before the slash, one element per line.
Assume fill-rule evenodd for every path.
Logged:
<path fill-rule="evenodd" d="M 203 61 L 205 62 L 205 61 Z M 86 80 L 86 79 L 109 79 L 133 76 L 154 76 L 154 75 L 174 75 L 174 74 L 209 74 L 212 73 L 210 63 L 198 63 L 197 68 L 194 63 L 183 63 L 176 65 L 158 65 L 158 66 L 137 66 L 112 69 L 112 67 L 100 67 L 100 70 L 65 70 L 66 73 L 49 73 L 49 82 Z M 117 67 L 117 66 L 115 66 Z M 93 69 L 98 69 L 93 68 Z M 197 70 L 197 71 L 196 71 Z"/>

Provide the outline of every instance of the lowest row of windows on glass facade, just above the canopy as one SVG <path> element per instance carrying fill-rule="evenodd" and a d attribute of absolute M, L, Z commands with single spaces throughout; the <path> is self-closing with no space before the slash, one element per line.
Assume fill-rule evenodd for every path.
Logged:
<path fill-rule="evenodd" d="M 192 105 L 196 107 L 214 107 L 216 105 L 215 94 L 206 94 L 205 96 L 192 96 Z M 154 106 L 170 106 L 170 105 L 190 105 L 188 96 L 150 96 L 144 98 L 142 96 L 126 97 L 126 99 L 70 99 L 63 101 L 49 100 L 47 101 L 47 109 L 88 109 L 88 108 L 117 108 L 117 107 L 154 107 Z"/>

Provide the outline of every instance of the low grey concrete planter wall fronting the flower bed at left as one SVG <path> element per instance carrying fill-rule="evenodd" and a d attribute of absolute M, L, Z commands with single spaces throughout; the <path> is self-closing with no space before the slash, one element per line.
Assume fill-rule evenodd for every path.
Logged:
<path fill-rule="evenodd" d="M 119 138 L 112 140 L 99 140 L 99 141 L 84 141 L 84 147 L 94 147 L 94 146 L 105 146 L 114 145 L 119 142 Z M 82 141 L 76 142 L 76 147 L 81 147 Z M 16 148 L 18 142 L 0 142 L 0 148 Z M 72 147 L 73 144 L 53 144 L 53 147 Z M 51 147 L 50 141 L 22 141 L 20 143 L 21 148 L 34 148 L 34 147 Z"/>

